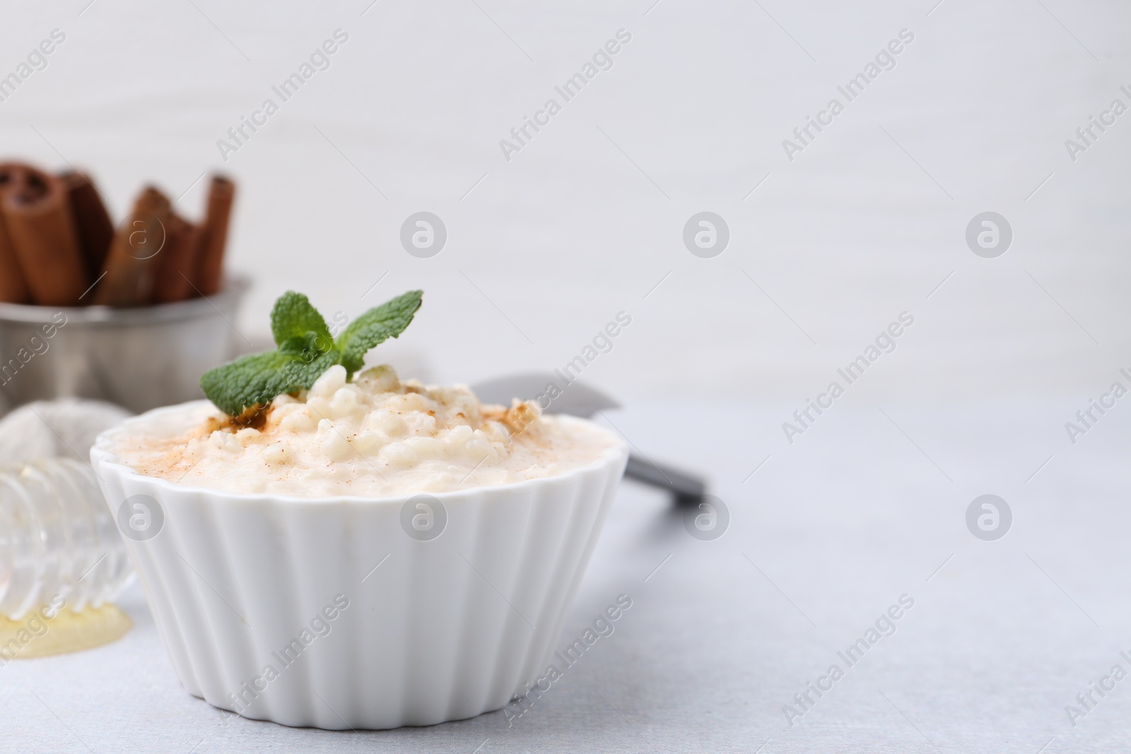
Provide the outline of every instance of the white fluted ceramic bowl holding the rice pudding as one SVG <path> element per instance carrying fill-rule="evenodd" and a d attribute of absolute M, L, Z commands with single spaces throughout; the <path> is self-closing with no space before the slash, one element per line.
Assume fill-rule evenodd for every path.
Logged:
<path fill-rule="evenodd" d="M 127 419 L 90 458 L 120 528 L 126 501 L 150 515 L 148 532 L 122 530 L 190 693 L 287 726 L 395 728 L 500 709 L 544 673 L 623 443 L 561 476 L 435 493 L 447 525 L 425 541 L 402 526 L 411 495 L 224 493 L 143 476 L 110 450 L 187 406 Z"/>

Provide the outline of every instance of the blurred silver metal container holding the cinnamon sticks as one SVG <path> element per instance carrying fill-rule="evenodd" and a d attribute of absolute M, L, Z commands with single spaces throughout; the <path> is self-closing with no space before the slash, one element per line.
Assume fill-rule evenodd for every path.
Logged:
<path fill-rule="evenodd" d="M 201 398 L 200 375 L 235 355 L 247 278 L 208 298 L 111 309 L 0 303 L 0 399 L 78 397 L 141 413 Z"/>

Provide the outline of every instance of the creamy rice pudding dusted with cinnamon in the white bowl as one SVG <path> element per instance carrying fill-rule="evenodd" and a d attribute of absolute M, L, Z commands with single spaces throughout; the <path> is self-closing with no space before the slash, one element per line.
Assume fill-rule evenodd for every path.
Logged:
<path fill-rule="evenodd" d="M 136 470 L 240 493 L 303 497 L 392 496 L 556 476 L 603 458 L 618 441 L 537 404 L 481 405 L 463 385 L 400 382 L 375 366 L 346 382 L 327 370 L 309 391 L 271 401 L 258 428 L 233 426 L 210 405 L 121 440 Z"/>

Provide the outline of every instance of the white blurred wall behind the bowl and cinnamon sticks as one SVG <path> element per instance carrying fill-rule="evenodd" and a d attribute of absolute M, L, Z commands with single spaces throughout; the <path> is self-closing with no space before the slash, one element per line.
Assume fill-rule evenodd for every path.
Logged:
<path fill-rule="evenodd" d="M 1064 147 L 1131 104 L 1121 3 L 195 1 L 8 10 L 0 70 L 67 41 L 0 104 L 0 136 L 89 168 L 115 216 L 146 181 L 193 187 L 179 206 L 198 216 L 201 172 L 234 175 L 252 340 L 287 288 L 355 314 L 418 286 L 386 352 L 439 381 L 560 366 L 621 310 L 632 326 L 587 376 L 627 400 L 800 405 L 905 310 L 916 326 L 854 400 L 1085 397 L 1123 365 L 1131 118 L 1076 163 Z M 224 162 L 216 141 L 336 28 L 330 69 Z M 507 162 L 500 139 L 620 28 L 614 67 Z M 791 163 L 782 140 L 901 28 L 896 68 Z M 398 240 L 420 210 L 449 234 L 426 260 Z M 681 240 L 701 210 L 731 227 L 711 260 Z M 1015 233 L 995 260 L 964 241 L 986 210 Z"/>

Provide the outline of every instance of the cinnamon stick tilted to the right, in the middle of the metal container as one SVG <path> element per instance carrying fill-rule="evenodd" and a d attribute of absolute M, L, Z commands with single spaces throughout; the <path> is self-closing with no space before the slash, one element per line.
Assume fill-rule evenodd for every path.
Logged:
<path fill-rule="evenodd" d="M 133 211 L 118 226 L 106 255 L 106 276 L 95 287 L 94 303 L 143 306 L 154 289 L 171 215 L 169 197 L 146 187 Z"/>

